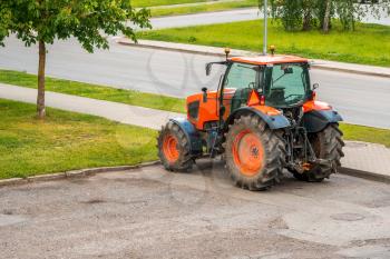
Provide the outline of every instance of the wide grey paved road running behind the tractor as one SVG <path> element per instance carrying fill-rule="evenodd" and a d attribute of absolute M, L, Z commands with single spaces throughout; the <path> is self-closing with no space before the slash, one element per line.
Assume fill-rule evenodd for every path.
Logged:
<path fill-rule="evenodd" d="M 37 50 L 14 38 L 0 48 L 0 68 L 37 70 Z M 177 97 L 215 89 L 218 74 L 205 77 L 204 66 L 215 57 L 130 48 L 111 43 L 109 51 L 88 54 L 75 43 L 58 42 L 49 48 L 48 74 L 113 87 Z M 332 103 L 351 123 L 390 128 L 390 79 L 313 70 L 319 98 Z"/>

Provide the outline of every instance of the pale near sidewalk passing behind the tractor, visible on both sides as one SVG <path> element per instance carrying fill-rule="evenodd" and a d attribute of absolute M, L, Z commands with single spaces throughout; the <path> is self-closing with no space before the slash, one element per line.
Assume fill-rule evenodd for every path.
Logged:
<path fill-rule="evenodd" d="M 37 90 L 0 83 L 0 98 L 36 103 Z M 160 129 L 169 119 L 183 113 L 46 92 L 48 107 L 99 116 L 121 123 Z M 348 141 L 342 159 L 342 173 L 390 182 L 390 149 L 374 143 Z"/>

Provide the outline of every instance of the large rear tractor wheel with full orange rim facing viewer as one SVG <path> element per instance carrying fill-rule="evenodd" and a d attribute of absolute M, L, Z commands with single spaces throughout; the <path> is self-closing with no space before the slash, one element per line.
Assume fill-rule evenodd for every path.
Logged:
<path fill-rule="evenodd" d="M 236 186 L 264 190 L 283 175 L 285 145 L 280 131 L 271 130 L 256 114 L 235 119 L 225 135 L 226 168 Z"/>

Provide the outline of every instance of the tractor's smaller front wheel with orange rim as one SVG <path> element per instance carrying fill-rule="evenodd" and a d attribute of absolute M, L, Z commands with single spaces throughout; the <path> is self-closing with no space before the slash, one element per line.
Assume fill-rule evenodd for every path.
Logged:
<path fill-rule="evenodd" d="M 186 171 L 193 166 L 189 155 L 189 141 L 176 123 L 169 121 L 158 136 L 158 157 L 165 169 Z"/>

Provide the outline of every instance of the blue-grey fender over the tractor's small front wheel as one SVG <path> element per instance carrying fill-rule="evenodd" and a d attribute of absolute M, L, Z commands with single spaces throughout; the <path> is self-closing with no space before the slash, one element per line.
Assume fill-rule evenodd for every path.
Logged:
<path fill-rule="evenodd" d="M 177 124 L 184 131 L 186 138 L 189 141 L 191 155 L 202 153 L 202 138 L 199 132 L 195 129 L 194 124 L 184 118 L 169 119 L 169 121 Z"/>

